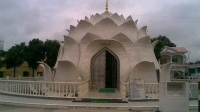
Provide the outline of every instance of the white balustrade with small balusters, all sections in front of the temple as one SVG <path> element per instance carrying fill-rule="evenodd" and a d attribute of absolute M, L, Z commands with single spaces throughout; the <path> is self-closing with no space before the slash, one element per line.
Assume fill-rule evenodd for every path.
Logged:
<path fill-rule="evenodd" d="M 146 99 L 159 99 L 159 83 L 145 83 Z M 189 83 L 190 98 L 198 97 L 198 84 Z M 89 91 L 89 80 L 80 82 L 47 82 L 0 80 L 0 92 L 26 96 L 81 98 Z M 123 99 L 129 98 L 129 83 L 120 81 Z"/>

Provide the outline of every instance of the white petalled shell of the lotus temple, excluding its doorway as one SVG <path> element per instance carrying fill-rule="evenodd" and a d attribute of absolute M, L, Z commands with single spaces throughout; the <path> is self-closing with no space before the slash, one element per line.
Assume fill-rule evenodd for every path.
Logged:
<path fill-rule="evenodd" d="M 102 14 L 86 16 L 84 20 L 78 21 L 77 26 L 71 25 L 69 34 L 64 36 L 64 44 L 59 50 L 55 65 L 55 69 L 58 70 L 56 73 L 59 74 L 55 74 L 55 81 L 62 77 L 61 73 L 63 77 L 68 76 L 71 81 L 76 81 L 79 77 L 82 80 L 90 80 L 92 60 L 99 52 L 105 50 L 119 61 L 120 80 L 126 81 L 130 77 L 135 77 L 133 75 L 140 73 L 137 68 L 141 68 L 151 72 L 148 74 L 149 77 L 144 75 L 140 78 L 146 79 L 147 82 L 156 82 L 155 71 L 160 69 L 154 54 L 156 43 L 151 44 L 147 26 L 138 29 L 137 21 L 131 16 L 125 19 L 123 15 L 105 11 Z M 59 65 L 61 63 L 62 66 Z M 62 71 L 63 68 L 69 68 L 69 65 L 73 70 Z M 148 66 L 153 67 L 148 69 Z M 71 74 L 73 71 L 76 75 Z"/>

